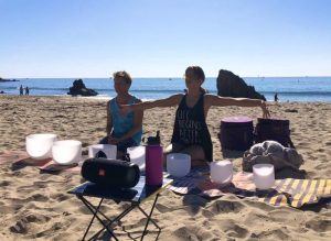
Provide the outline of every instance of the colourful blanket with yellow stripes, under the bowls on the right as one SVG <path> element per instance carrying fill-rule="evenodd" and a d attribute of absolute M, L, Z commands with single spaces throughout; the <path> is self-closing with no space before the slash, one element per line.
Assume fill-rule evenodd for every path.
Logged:
<path fill-rule="evenodd" d="M 252 173 L 236 173 L 231 184 L 220 185 L 211 182 L 209 168 L 196 168 L 188 176 L 174 179 L 169 189 L 177 194 L 196 194 L 211 198 L 235 194 L 274 206 L 300 208 L 316 204 L 321 198 L 331 198 L 331 179 L 278 179 L 273 188 L 258 190 Z"/>

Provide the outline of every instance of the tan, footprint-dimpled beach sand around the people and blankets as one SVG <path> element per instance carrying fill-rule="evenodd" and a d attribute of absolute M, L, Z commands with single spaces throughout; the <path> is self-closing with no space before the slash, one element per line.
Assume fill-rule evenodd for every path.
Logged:
<path fill-rule="evenodd" d="M 302 154 L 309 178 L 331 178 L 331 103 L 279 103 L 269 106 L 271 116 L 290 120 L 291 138 Z M 56 133 L 61 140 L 76 139 L 87 145 L 105 134 L 106 100 L 71 97 L 0 96 L 0 151 L 25 149 L 25 135 Z M 163 145 L 172 134 L 174 108 L 147 110 L 143 135 L 161 131 Z M 214 160 L 223 160 L 217 139 L 220 120 L 231 116 L 260 117 L 259 108 L 213 108 L 207 123 L 214 145 Z M 242 157 L 233 153 L 235 171 Z M 41 174 L 35 167 L 12 169 L 0 165 L 0 240 L 79 240 L 90 220 L 89 211 L 66 191 L 82 182 L 79 174 Z M 94 200 L 96 201 L 96 200 Z M 104 211 L 115 217 L 127 205 L 106 201 Z M 142 208 L 149 210 L 151 202 Z M 233 195 L 207 200 L 196 195 L 162 193 L 153 218 L 162 228 L 159 240 L 331 240 L 331 207 L 293 209 L 241 199 Z M 130 240 L 138 235 L 146 218 L 132 211 L 116 233 Z M 97 231 L 98 224 L 92 228 Z M 146 240 L 154 240 L 149 226 Z M 126 231 L 125 231 L 126 230 Z M 107 234 L 100 240 L 108 240 Z"/>

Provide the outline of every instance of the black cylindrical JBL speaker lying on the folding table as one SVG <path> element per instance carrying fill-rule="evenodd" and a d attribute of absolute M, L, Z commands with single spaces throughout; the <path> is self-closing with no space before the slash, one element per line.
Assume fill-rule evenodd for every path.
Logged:
<path fill-rule="evenodd" d="M 126 161 L 88 158 L 82 166 L 82 176 L 100 186 L 130 188 L 139 182 L 140 169 Z"/>

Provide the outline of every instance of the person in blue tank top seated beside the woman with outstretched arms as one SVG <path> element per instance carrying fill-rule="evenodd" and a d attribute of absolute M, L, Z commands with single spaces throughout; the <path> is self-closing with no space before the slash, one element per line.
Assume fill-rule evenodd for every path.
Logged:
<path fill-rule="evenodd" d="M 127 147 L 137 146 L 142 135 L 142 110 L 119 113 L 119 105 L 134 105 L 141 102 L 129 94 L 132 79 L 127 72 L 114 73 L 114 89 L 117 94 L 107 103 L 107 136 L 100 144 L 117 145 L 117 157 L 122 158 Z"/>

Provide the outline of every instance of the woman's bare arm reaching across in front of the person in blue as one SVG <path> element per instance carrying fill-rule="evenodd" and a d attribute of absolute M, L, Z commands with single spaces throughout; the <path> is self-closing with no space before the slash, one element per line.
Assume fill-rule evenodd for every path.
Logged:
<path fill-rule="evenodd" d="M 135 105 L 120 105 L 119 108 L 122 113 L 128 113 L 129 111 L 147 110 L 156 107 L 173 107 L 179 105 L 182 97 L 182 94 L 178 94 L 166 99 L 143 101 Z"/>

